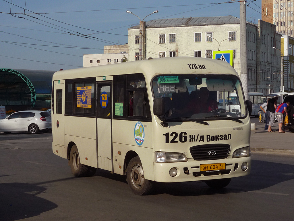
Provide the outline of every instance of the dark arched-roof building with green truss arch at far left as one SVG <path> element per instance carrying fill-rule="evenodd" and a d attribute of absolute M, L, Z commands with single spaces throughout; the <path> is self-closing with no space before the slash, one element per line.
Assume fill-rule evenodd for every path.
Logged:
<path fill-rule="evenodd" d="M 0 106 L 50 107 L 54 73 L 0 68 Z"/>

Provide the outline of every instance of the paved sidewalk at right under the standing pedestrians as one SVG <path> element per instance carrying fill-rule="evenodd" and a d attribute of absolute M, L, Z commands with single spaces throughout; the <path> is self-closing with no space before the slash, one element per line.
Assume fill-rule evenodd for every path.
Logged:
<path fill-rule="evenodd" d="M 252 153 L 287 154 L 294 156 L 294 133 L 286 130 L 279 133 L 278 122 L 272 127 L 274 133 L 264 131 L 265 123 L 259 123 L 258 118 L 250 118 L 255 123 L 255 130 L 251 130 L 250 147 Z"/>

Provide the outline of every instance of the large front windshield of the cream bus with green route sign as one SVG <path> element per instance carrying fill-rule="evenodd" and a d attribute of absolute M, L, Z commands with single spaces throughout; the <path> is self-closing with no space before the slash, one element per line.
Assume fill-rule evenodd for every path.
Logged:
<path fill-rule="evenodd" d="M 163 121 L 243 118 L 245 100 L 233 75 L 161 75 L 152 81 L 154 98 L 163 98 Z M 230 93 L 236 96 L 230 99 Z M 233 103 L 232 103 L 233 102 Z"/>

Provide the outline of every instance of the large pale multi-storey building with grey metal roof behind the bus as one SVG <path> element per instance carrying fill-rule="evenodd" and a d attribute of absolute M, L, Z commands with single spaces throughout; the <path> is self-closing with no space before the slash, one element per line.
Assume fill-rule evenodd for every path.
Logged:
<path fill-rule="evenodd" d="M 278 92 L 281 35 L 275 25 L 247 23 L 248 92 Z M 128 29 L 128 60 L 138 60 L 139 26 Z M 158 19 L 146 22 L 143 30 L 143 58 L 207 57 L 213 51 L 233 50 L 233 67 L 240 75 L 240 19 L 233 16 Z M 277 80 L 276 78 L 275 80 Z M 276 86 L 275 86 L 276 85 Z"/>

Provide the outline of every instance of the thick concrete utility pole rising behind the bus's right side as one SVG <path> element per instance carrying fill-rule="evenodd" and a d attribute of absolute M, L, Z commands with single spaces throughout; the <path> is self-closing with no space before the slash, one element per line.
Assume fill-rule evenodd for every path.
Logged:
<path fill-rule="evenodd" d="M 246 1 L 240 1 L 240 60 L 241 83 L 245 100 L 248 100 L 248 75 L 247 75 L 247 32 L 246 32 Z"/>

